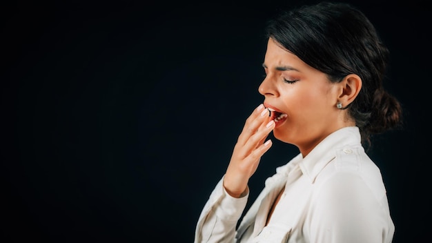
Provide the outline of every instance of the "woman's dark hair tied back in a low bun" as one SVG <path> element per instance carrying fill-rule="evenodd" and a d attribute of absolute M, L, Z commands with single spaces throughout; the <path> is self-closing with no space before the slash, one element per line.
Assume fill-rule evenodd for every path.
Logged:
<path fill-rule="evenodd" d="M 401 125 L 402 107 L 384 90 L 389 50 L 363 12 L 348 3 L 324 1 L 282 12 L 268 21 L 266 37 L 327 74 L 331 82 L 346 75 L 362 79 L 362 89 L 348 105 L 362 142 Z"/>

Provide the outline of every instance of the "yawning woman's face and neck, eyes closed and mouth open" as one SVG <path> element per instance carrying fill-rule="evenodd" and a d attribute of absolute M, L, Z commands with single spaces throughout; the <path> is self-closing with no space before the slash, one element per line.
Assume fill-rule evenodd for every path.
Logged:
<path fill-rule="evenodd" d="M 308 51 L 308 50 L 305 50 Z M 264 59 L 266 78 L 259 86 L 264 106 L 275 110 L 273 135 L 308 153 L 324 137 L 340 128 L 336 108 L 340 86 L 296 55 L 268 40 Z M 279 117 L 279 118 L 277 118 Z"/>

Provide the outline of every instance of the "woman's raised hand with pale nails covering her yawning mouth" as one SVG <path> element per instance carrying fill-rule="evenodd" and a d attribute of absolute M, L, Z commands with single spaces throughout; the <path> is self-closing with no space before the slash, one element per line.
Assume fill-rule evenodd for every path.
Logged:
<path fill-rule="evenodd" d="M 268 134 L 275 128 L 268 111 L 260 104 L 246 119 L 242 133 L 234 146 L 233 155 L 224 177 L 224 187 L 233 197 L 241 197 L 246 191 L 249 178 L 257 171 L 259 160 L 271 147 Z"/>

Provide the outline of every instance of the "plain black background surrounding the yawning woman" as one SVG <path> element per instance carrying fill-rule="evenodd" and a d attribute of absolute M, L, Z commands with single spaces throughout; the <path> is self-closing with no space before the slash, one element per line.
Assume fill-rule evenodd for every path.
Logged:
<path fill-rule="evenodd" d="M 313 1 L 10 1 L 1 6 L 1 242 L 193 242 L 257 92 L 264 24 Z M 374 137 L 393 242 L 431 229 L 431 10 L 348 1 L 391 50 L 404 130 Z M 341 37 L 343 38 L 343 37 Z M 251 197 L 298 153 L 275 141 Z"/>

